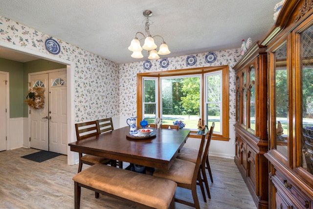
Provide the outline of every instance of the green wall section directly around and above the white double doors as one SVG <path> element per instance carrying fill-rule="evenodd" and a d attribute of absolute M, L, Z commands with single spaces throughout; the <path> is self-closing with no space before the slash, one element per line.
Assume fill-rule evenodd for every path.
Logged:
<path fill-rule="evenodd" d="M 30 72 L 40 72 L 45 70 L 54 70 L 54 69 L 61 69 L 66 68 L 67 66 L 60 63 L 51 62 L 48 60 L 35 60 L 30 62 L 23 63 L 23 70 L 24 70 L 24 78 L 23 78 L 23 95 L 26 99 L 27 92 L 28 92 L 28 73 Z M 23 104 L 23 117 L 28 117 L 28 105 L 26 102 Z"/>

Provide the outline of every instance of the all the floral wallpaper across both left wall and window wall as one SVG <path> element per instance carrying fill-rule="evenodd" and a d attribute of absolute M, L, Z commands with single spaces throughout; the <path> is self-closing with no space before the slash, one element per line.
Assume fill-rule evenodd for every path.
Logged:
<path fill-rule="evenodd" d="M 46 50 L 45 40 L 48 38 L 59 43 L 61 47 L 59 54 L 52 55 Z M 235 120 L 235 73 L 232 67 L 241 58 L 240 48 L 214 51 L 216 60 L 212 63 L 206 62 L 207 53 L 194 54 L 196 62 L 192 66 L 186 63 L 189 55 L 168 58 L 167 67 L 164 65 L 161 67 L 161 59 L 151 60 L 151 68 L 146 70 L 144 62 L 117 65 L 82 48 L 1 16 L 0 41 L 50 54 L 75 64 L 72 81 L 75 122 L 110 116 L 136 116 L 137 73 L 219 65 L 229 66 L 229 119 Z"/>

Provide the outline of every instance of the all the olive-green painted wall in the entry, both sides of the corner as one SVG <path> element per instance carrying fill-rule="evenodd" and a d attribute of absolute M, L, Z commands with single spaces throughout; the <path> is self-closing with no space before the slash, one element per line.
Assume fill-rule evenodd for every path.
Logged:
<path fill-rule="evenodd" d="M 0 58 L 0 71 L 9 72 L 10 118 L 28 117 L 28 106 L 24 102 L 28 91 L 28 73 L 66 68 L 66 65 L 48 60 L 26 63 Z"/>

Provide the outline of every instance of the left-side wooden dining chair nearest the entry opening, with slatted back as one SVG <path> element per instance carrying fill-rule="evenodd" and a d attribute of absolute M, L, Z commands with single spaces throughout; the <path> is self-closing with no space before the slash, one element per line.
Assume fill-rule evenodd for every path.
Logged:
<path fill-rule="evenodd" d="M 100 132 L 98 130 L 97 121 L 89 121 L 83 123 L 76 123 L 76 139 L 77 141 L 87 139 L 92 136 L 99 135 Z M 110 159 L 94 156 L 94 155 L 83 155 L 83 153 L 79 153 L 79 165 L 78 165 L 78 173 L 82 171 L 83 164 L 109 164 Z"/>

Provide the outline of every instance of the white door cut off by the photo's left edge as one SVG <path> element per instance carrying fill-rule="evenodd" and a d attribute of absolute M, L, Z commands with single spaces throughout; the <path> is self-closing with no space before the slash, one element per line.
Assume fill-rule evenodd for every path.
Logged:
<path fill-rule="evenodd" d="M 6 150 L 6 84 L 6 73 L 0 72 L 0 151 Z"/>

